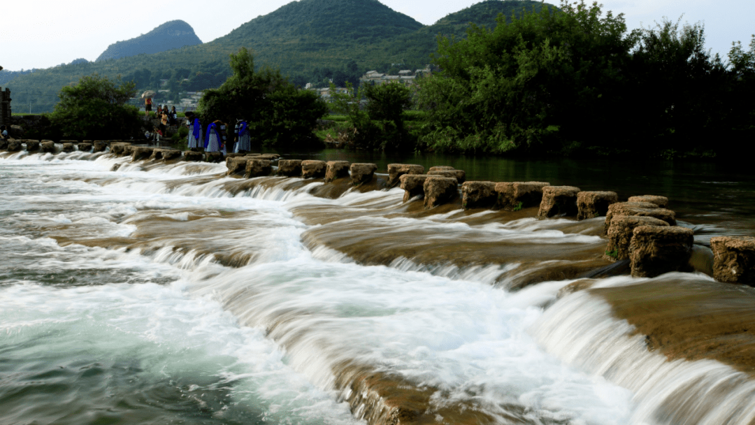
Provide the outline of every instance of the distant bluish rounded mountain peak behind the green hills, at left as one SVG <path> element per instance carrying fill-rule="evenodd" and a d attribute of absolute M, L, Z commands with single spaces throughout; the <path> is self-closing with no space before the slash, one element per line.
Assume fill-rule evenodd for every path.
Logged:
<path fill-rule="evenodd" d="M 183 20 L 171 20 L 146 34 L 109 45 L 95 62 L 136 56 L 137 54 L 159 53 L 183 48 L 183 46 L 201 44 L 202 40 L 196 36 L 194 29 L 188 23 L 183 22 Z"/>

